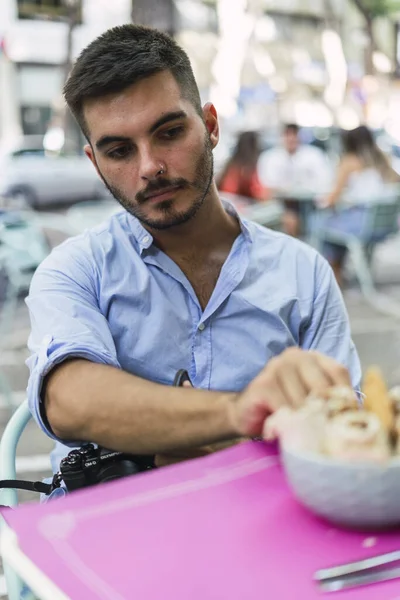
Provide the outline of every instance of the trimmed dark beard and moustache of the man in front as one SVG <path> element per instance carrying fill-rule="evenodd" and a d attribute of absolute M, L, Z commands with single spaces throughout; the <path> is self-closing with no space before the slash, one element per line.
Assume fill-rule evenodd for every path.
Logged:
<path fill-rule="evenodd" d="M 187 223 L 197 214 L 210 190 L 210 186 L 214 177 L 214 160 L 212 146 L 208 133 L 204 137 L 204 145 L 202 152 L 197 160 L 195 177 L 192 182 L 183 178 L 166 179 L 158 177 L 157 180 L 150 182 L 147 187 L 138 192 L 135 196 L 135 201 L 132 202 L 127 196 L 121 192 L 116 186 L 109 183 L 103 174 L 98 169 L 104 185 L 132 216 L 136 217 L 143 225 L 150 229 L 162 230 L 176 227 Z M 177 186 L 180 190 L 187 190 L 188 193 L 195 194 L 192 204 L 184 211 L 179 211 L 174 207 L 174 200 L 164 200 L 156 205 L 153 205 L 153 210 L 158 211 L 159 217 L 148 217 L 146 211 L 146 202 L 149 194 L 162 191 L 171 186 Z"/>

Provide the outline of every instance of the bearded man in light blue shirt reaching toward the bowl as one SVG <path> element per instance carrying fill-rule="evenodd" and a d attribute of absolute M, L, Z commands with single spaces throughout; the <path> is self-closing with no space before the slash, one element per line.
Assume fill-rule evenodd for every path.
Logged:
<path fill-rule="evenodd" d="M 172 39 L 107 31 L 65 98 L 125 211 L 57 247 L 33 278 L 28 394 L 48 435 L 183 458 L 259 436 L 279 406 L 350 384 L 348 369 L 359 383 L 324 259 L 221 203 L 217 113 Z M 180 368 L 197 389 L 171 386 Z"/>

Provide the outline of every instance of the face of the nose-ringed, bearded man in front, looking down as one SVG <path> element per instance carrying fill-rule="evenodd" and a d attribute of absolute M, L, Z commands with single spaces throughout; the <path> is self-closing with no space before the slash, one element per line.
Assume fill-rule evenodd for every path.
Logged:
<path fill-rule="evenodd" d="M 218 121 L 212 105 L 203 113 L 205 123 L 168 71 L 85 103 L 87 155 L 114 197 L 149 228 L 187 222 L 209 192 Z"/>

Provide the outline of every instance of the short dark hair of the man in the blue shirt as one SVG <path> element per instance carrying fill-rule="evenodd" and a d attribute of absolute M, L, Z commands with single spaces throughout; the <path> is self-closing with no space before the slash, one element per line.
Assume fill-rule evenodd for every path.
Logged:
<path fill-rule="evenodd" d="M 83 133 L 85 100 L 120 92 L 141 79 L 170 71 L 182 96 L 202 115 L 201 100 L 186 52 L 167 34 L 126 24 L 109 29 L 80 54 L 64 86 L 64 97 Z"/>

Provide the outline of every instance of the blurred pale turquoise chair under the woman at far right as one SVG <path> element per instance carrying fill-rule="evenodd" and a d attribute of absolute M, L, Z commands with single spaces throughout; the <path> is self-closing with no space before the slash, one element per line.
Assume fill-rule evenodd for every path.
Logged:
<path fill-rule="evenodd" d="M 354 267 L 361 292 L 376 310 L 400 318 L 400 304 L 379 293 L 372 274 L 372 257 L 377 244 L 399 232 L 400 200 L 393 197 L 369 201 L 360 235 L 355 236 L 329 226 L 315 227 L 310 243 L 319 251 L 324 242 L 344 246 Z"/>

